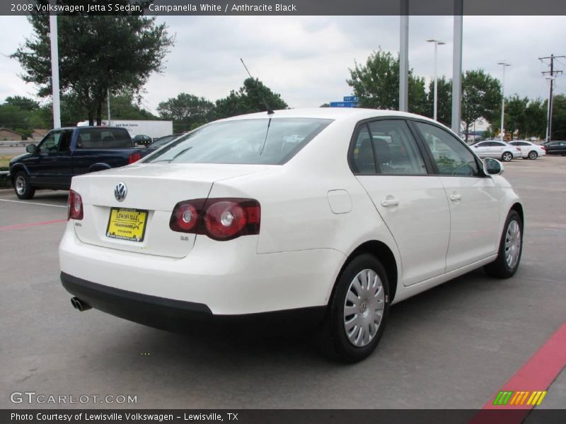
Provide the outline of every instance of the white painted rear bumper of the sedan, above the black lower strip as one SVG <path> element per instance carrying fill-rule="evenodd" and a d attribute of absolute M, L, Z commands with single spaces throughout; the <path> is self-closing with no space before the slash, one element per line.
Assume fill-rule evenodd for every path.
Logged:
<path fill-rule="evenodd" d="M 184 258 L 158 257 L 88 245 L 73 225 L 59 245 L 62 273 L 187 307 L 205 305 L 208 312 L 198 312 L 214 315 L 325 307 L 346 259 L 334 249 L 257 254 L 255 236 L 216 242 L 204 235 Z"/>

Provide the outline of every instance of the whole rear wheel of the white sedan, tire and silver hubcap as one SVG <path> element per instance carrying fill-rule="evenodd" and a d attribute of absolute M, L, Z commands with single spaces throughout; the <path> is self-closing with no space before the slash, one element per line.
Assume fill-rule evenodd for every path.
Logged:
<path fill-rule="evenodd" d="M 371 254 L 350 261 L 338 277 L 320 333 L 325 353 L 356 363 L 374 351 L 389 311 L 389 285 L 381 262 Z"/>

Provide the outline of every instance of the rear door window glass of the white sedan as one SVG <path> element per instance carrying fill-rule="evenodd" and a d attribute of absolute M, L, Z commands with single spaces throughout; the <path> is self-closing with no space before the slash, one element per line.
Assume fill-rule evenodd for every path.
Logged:
<path fill-rule="evenodd" d="M 369 123 L 377 166 L 383 175 L 424 175 L 427 167 L 405 121 Z"/>

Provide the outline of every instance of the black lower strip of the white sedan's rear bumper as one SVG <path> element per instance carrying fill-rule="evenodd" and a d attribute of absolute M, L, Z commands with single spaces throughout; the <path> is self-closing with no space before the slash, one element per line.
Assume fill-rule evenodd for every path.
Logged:
<path fill-rule="evenodd" d="M 324 318 L 325 307 L 307 307 L 294 310 L 265 312 L 260 314 L 214 315 L 202 303 L 184 302 L 143 295 L 127 290 L 108 287 L 61 273 L 63 287 L 91 307 L 158 329 L 191 332 L 209 331 L 217 326 L 258 325 L 266 329 L 301 331 L 314 328 Z"/>

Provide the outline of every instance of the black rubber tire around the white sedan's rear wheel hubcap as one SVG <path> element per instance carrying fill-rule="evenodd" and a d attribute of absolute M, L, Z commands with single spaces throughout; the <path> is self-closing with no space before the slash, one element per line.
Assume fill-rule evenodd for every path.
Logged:
<path fill-rule="evenodd" d="M 354 278 L 357 278 L 359 273 L 368 269 L 374 271 L 379 277 L 379 280 L 381 280 L 383 300 L 379 302 L 379 305 L 383 305 L 383 309 L 381 310 L 379 325 L 375 326 L 374 324 L 374 328 L 376 328 L 374 336 L 369 338 L 369 342 L 364 346 L 354 346 L 354 344 L 350 342 L 345 329 L 346 317 L 344 316 L 344 308 L 347 302 L 346 297 L 351 289 L 350 286 L 354 283 Z M 376 285 L 379 286 L 379 282 L 377 282 Z M 375 298 L 377 299 L 378 296 L 375 296 Z M 381 298 L 381 295 L 379 295 L 379 298 Z M 363 309 L 361 307 L 359 310 L 359 319 L 366 319 L 366 322 L 371 322 L 371 316 L 368 314 L 368 317 L 364 317 L 364 312 L 362 312 L 362 310 L 364 312 L 370 311 L 369 314 L 371 314 L 371 306 L 366 305 L 366 307 L 363 307 Z M 387 322 L 388 312 L 389 284 L 383 265 L 381 265 L 381 262 L 371 254 L 361 254 L 358 257 L 355 257 L 345 266 L 342 273 L 340 273 L 340 276 L 338 276 L 333 290 L 333 295 L 330 298 L 326 317 L 322 324 L 323 327 L 320 330 L 320 344 L 323 348 L 323 352 L 330 358 L 344 363 L 357 363 L 360 360 L 367 358 L 374 351 L 381 339 L 381 336 L 383 335 L 383 329 Z M 368 329 L 370 329 L 371 333 L 371 325 L 368 326 Z M 356 332 L 357 331 L 355 331 L 354 327 L 352 334 Z M 363 338 L 364 337 L 362 337 L 362 343 L 365 343 Z"/>

